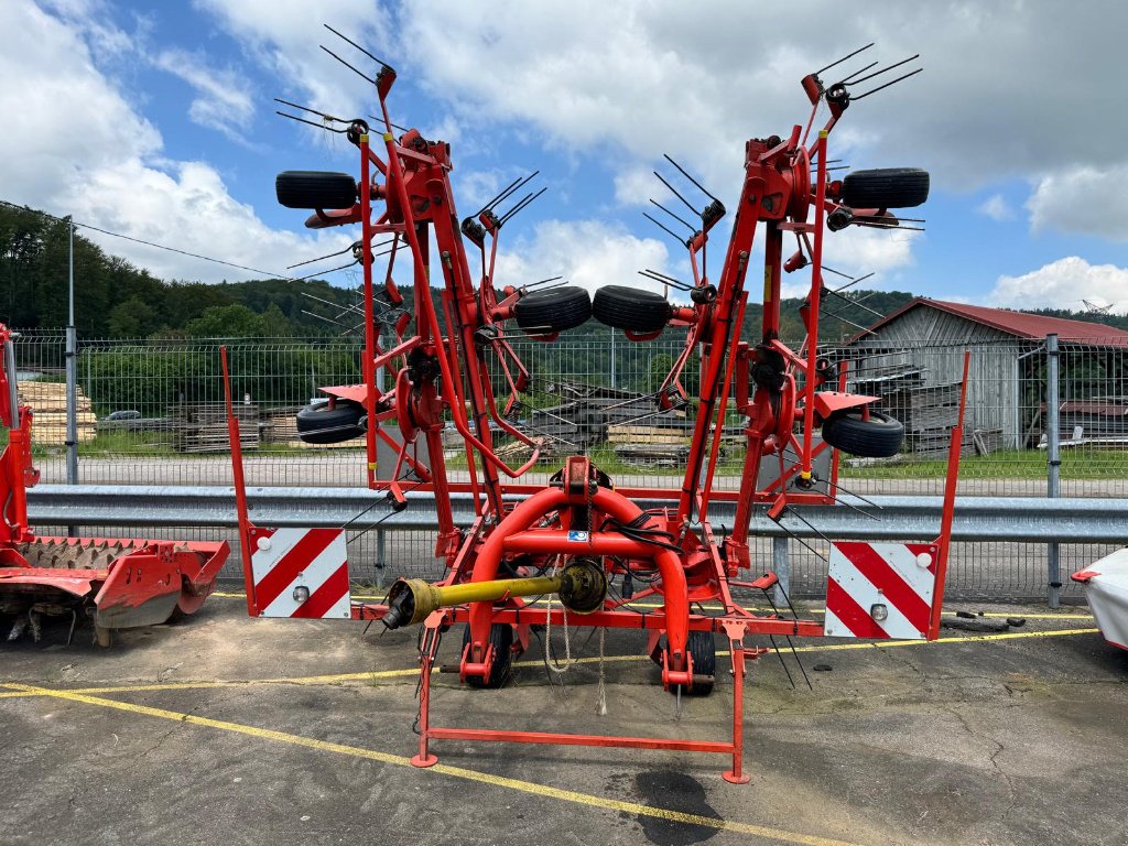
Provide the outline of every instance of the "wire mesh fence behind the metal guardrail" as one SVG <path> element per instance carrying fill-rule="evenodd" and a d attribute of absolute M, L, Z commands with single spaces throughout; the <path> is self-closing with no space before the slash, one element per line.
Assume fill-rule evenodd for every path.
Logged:
<path fill-rule="evenodd" d="M 20 391 L 36 411 L 35 458 L 47 483 L 67 481 L 64 341 L 63 333 L 51 332 L 24 333 L 17 342 Z M 297 411 L 318 396 L 318 388 L 360 381 L 360 346 L 355 341 L 293 338 L 81 341 L 76 482 L 229 485 L 220 343 L 228 347 L 249 485 L 364 484 L 360 441 L 315 447 L 301 442 L 294 426 Z M 680 336 L 667 333 L 631 343 L 608 329 L 596 338 L 510 343 L 529 380 L 509 417 L 544 455 L 525 481 L 544 482 L 562 456 L 582 452 L 619 485 L 680 487 L 700 368 L 694 351 L 680 379 L 689 402 L 678 402 L 667 376 L 681 355 Z M 1060 345 L 1054 408 L 1047 405 L 1051 353 L 1041 341 L 892 346 L 863 340 L 820 351 L 845 373 L 848 390 L 880 397 L 876 407 L 906 430 L 905 447 L 895 458 L 844 456 L 844 491 L 863 496 L 942 493 L 966 350 L 971 358 L 961 495 L 1046 496 L 1047 447 L 1055 432 L 1060 495 L 1128 493 L 1128 373 L 1126 345 L 1118 338 Z M 505 372 L 496 359 L 487 363 L 501 403 Z M 510 363 L 515 379 L 513 370 Z M 663 388 L 672 402 L 659 402 Z M 730 400 L 716 478 L 722 490 L 739 487 L 744 458 L 740 423 Z M 503 449 L 521 455 L 521 444 L 497 434 Z M 461 441 L 452 431 L 449 435 L 451 476 L 464 478 Z M 360 532 L 355 546 L 353 559 L 364 578 L 376 580 L 386 567 L 435 572 L 433 538 L 426 534 Z M 825 562 L 792 546 L 793 585 L 820 593 Z M 959 596 L 1045 596 L 1045 544 L 957 546 L 951 587 Z M 1061 570 L 1068 573 L 1096 556 L 1091 547 L 1063 547 Z M 769 566 L 769 541 L 758 543 L 756 561 Z"/>

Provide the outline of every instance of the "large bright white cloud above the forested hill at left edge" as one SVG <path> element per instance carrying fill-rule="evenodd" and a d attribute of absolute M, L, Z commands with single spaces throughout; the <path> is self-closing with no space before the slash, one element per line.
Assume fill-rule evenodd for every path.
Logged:
<path fill-rule="evenodd" d="M 86 7 L 68 8 L 79 14 Z M 95 67 L 83 38 L 90 28 L 33 3 L 0 3 L 0 78 L 19 80 L 0 86 L 0 113 L 19 115 L 0 133 L 6 199 L 275 272 L 280 256 L 311 257 L 347 244 L 341 232 L 272 230 L 230 195 L 213 167 L 165 158 L 157 129 Z M 259 275 L 85 233 L 165 277 Z"/>

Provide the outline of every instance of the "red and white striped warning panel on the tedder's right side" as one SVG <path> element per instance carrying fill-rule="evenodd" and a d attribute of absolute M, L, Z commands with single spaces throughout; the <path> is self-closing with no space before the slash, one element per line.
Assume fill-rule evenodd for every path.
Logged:
<path fill-rule="evenodd" d="M 831 544 L 823 633 L 925 640 L 937 552 L 936 544 Z"/>

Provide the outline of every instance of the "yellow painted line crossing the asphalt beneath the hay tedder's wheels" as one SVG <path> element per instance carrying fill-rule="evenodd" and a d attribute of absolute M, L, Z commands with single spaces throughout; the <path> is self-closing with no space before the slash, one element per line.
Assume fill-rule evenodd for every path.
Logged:
<path fill-rule="evenodd" d="M 1029 640 L 1031 637 L 1066 637 L 1069 635 L 1096 634 L 1096 628 L 1061 628 L 1051 632 L 1005 632 L 982 635 L 957 635 L 952 637 L 937 637 L 935 641 L 864 641 L 852 643 L 823 643 L 814 646 L 796 646 L 795 652 L 843 652 L 846 650 L 882 650 L 891 646 L 928 646 L 933 644 L 953 643 L 985 643 L 990 641 Z M 717 656 L 731 654 L 728 650 L 717 650 Z M 605 663 L 633 663 L 636 661 L 650 661 L 649 655 L 605 655 Z M 600 661 L 598 655 L 589 658 L 574 658 L 572 663 L 591 664 Z M 514 667 L 540 667 L 541 661 L 515 661 Z M 433 672 L 439 672 L 434 668 Z M 371 670 L 368 672 L 342 672 L 329 676 L 293 676 L 276 679 L 232 679 L 228 681 L 166 681 L 151 685 L 108 685 L 103 687 L 80 687 L 68 690 L 72 694 L 113 694 L 113 693 L 135 693 L 147 690 L 191 690 L 208 688 L 230 688 L 230 687 L 261 687 L 264 685 L 336 685 L 346 681 L 377 681 L 379 679 L 404 678 L 416 676 L 416 668 L 402 670 Z M 0 686 L 15 686 L 17 682 L 0 681 Z M 25 686 L 26 687 L 26 686 Z M 0 691 L 0 699 L 14 699 L 26 696 L 43 696 L 38 693 Z"/>

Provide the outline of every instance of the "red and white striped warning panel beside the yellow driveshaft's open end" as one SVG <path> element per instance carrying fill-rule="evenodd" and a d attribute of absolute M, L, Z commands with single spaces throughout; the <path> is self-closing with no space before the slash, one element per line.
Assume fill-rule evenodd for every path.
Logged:
<path fill-rule="evenodd" d="M 252 529 L 250 571 L 259 617 L 352 616 L 341 529 Z"/>

